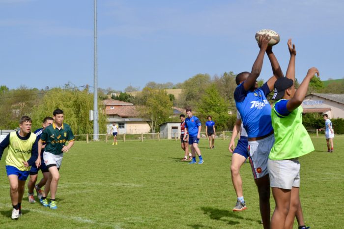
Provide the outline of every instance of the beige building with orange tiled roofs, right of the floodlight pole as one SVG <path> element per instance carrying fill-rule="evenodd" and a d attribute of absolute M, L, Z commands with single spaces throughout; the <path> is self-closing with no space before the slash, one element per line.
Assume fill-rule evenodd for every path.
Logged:
<path fill-rule="evenodd" d="M 148 119 L 141 118 L 136 106 L 115 99 L 103 100 L 105 112 L 108 117 L 107 129 L 111 134 L 111 126 L 115 122 L 118 126 L 118 134 L 149 133 Z"/>

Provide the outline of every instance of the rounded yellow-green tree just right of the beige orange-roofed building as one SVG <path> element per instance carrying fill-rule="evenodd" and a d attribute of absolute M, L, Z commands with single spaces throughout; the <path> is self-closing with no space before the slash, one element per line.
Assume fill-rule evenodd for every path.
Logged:
<path fill-rule="evenodd" d="M 139 112 L 149 119 L 151 131 L 155 133 L 158 123 L 163 122 L 172 114 L 172 101 L 165 90 L 149 87 L 144 87 L 139 96 L 143 104 Z"/>

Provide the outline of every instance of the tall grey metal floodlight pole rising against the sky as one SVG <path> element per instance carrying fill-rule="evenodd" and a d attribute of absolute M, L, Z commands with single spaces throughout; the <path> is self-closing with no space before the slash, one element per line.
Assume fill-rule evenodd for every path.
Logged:
<path fill-rule="evenodd" d="M 97 0 L 94 0 L 94 93 L 93 93 L 93 140 L 98 140 L 98 78 L 97 78 Z"/>

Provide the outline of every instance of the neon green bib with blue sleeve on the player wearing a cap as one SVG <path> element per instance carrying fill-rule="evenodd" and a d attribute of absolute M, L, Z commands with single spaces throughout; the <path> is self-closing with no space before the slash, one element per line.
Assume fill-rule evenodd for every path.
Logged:
<path fill-rule="evenodd" d="M 277 101 L 271 111 L 272 127 L 275 131 L 275 143 L 270 160 L 286 160 L 297 158 L 314 151 L 312 140 L 302 124 L 302 107 L 299 106 L 287 115 L 279 113 L 276 104 L 287 104 L 286 100 Z M 282 110 L 282 109 L 281 109 Z M 284 108 L 284 110 L 287 110 Z"/>

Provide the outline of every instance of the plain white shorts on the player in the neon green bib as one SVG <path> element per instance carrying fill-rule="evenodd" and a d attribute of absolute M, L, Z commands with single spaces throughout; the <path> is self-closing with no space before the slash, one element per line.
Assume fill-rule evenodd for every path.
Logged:
<path fill-rule="evenodd" d="M 268 160 L 270 186 L 291 190 L 300 187 L 300 163 L 297 159 Z"/>

